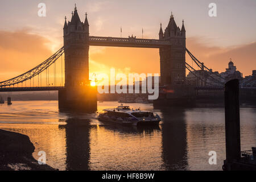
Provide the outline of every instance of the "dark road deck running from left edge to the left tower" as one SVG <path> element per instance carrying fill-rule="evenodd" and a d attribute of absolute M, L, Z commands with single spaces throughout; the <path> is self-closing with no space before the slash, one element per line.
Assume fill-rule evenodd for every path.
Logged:
<path fill-rule="evenodd" d="M 46 87 L 5 87 L 0 88 L 0 92 L 27 92 L 27 91 L 53 91 L 64 89 L 64 86 L 46 86 Z"/>

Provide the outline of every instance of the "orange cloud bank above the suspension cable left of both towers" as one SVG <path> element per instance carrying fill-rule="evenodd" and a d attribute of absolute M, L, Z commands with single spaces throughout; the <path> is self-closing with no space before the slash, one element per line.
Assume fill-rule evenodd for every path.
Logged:
<path fill-rule="evenodd" d="M 28 30 L 0 31 L 0 80 L 18 76 L 42 63 L 52 52 L 49 40 Z"/>

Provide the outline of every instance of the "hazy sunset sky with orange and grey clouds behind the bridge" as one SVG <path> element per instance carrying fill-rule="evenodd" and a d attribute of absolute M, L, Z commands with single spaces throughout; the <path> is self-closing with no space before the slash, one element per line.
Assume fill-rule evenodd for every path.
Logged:
<path fill-rule="evenodd" d="M 172 11 L 177 26 L 185 21 L 188 49 L 208 67 L 222 72 L 232 57 L 244 75 L 256 69 L 255 0 L 0 2 L 0 80 L 27 71 L 63 46 L 64 16 L 71 19 L 75 3 L 82 21 L 88 13 L 93 36 L 119 37 L 122 27 L 123 37 L 140 38 L 143 28 L 144 38 L 156 39 L 160 23 L 165 28 Z M 46 3 L 43 18 L 38 16 L 40 2 Z M 211 2 L 217 5 L 217 17 L 208 15 Z M 111 67 L 159 73 L 158 49 L 90 47 L 90 72 L 106 72 Z"/>

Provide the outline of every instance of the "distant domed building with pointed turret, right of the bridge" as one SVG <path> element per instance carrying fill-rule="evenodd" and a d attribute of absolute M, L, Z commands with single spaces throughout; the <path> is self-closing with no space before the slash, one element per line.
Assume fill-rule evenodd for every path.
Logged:
<path fill-rule="evenodd" d="M 225 82 L 233 79 L 242 80 L 243 75 L 240 71 L 237 71 L 237 67 L 234 66 L 234 63 L 230 59 L 229 68 L 226 68 L 225 72 L 221 73 L 221 76 L 225 78 Z"/>

